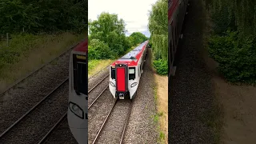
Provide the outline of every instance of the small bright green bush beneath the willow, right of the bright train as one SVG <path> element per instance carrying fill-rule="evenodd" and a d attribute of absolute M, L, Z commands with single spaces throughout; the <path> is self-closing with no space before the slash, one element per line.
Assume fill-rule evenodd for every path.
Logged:
<path fill-rule="evenodd" d="M 153 66 L 160 75 L 168 74 L 168 62 L 162 59 L 154 60 Z"/>

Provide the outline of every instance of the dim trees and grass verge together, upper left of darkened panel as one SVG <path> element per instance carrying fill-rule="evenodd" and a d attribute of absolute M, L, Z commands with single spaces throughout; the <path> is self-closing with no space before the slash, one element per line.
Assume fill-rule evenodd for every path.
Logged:
<path fill-rule="evenodd" d="M 0 90 L 85 38 L 87 0 L 0 1 Z"/>

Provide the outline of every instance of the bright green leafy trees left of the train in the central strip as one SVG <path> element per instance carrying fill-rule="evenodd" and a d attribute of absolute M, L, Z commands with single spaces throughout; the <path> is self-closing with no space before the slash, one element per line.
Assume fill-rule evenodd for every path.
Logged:
<path fill-rule="evenodd" d="M 125 22 L 118 14 L 103 12 L 98 20 L 89 22 L 90 59 L 114 59 L 125 54 L 131 46 L 147 40 L 142 33 L 135 32 L 126 37 Z"/>

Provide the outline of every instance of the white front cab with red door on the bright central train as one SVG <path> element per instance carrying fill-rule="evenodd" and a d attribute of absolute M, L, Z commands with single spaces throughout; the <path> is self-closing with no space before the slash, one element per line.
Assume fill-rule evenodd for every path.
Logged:
<path fill-rule="evenodd" d="M 110 92 L 114 98 L 124 99 L 126 95 L 134 98 L 141 76 L 140 69 L 141 66 L 128 67 L 126 64 L 110 66 Z"/>

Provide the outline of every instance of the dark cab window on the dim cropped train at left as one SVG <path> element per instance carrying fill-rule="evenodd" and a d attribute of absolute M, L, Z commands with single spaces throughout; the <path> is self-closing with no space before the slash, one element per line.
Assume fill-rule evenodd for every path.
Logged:
<path fill-rule="evenodd" d="M 79 95 L 87 94 L 87 65 L 86 57 L 82 55 L 73 55 L 73 72 L 74 72 L 74 90 Z"/>

